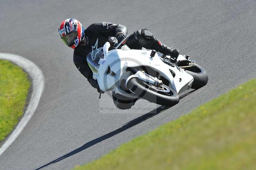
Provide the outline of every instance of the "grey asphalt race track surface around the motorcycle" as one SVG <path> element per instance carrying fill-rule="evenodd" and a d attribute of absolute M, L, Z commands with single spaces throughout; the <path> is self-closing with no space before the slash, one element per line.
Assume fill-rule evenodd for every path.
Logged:
<path fill-rule="evenodd" d="M 37 110 L 0 156 L 1 170 L 74 168 L 256 77 L 255 0 L 8 0 L 0 9 L 0 52 L 28 58 L 45 76 Z M 73 64 L 73 50 L 60 40 L 60 22 L 73 17 L 84 27 L 97 21 L 120 23 L 128 34 L 147 28 L 198 61 L 209 82 L 183 93 L 171 108 L 139 100 L 134 110 L 118 111 L 108 94 L 99 100 Z"/>

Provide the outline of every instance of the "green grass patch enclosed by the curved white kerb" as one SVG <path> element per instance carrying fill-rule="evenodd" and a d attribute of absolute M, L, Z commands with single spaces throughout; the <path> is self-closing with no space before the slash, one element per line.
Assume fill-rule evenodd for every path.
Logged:
<path fill-rule="evenodd" d="M 27 73 L 10 61 L 0 60 L 0 142 L 23 114 L 29 87 Z"/>

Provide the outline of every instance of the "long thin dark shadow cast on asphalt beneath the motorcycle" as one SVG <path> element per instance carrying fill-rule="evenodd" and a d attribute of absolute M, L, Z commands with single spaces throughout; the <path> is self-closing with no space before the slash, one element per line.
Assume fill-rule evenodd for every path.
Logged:
<path fill-rule="evenodd" d="M 180 99 L 182 99 L 183 97 L 187 96 L 188 94 L 190 94 L 190 93 L 192 93 L 194 91 L 195 90 L 192 90 L 192 91 L 190 91 L 190 92 L 180 96 Z M 55 164 L 55 163 L 65 159 L 65 158 L 68 158 L 68 157 L 70 157 L 72 155 L 75 155 L 78 152 L 84 151 L 85 149 L 87 149 L 87 148 L 89 148 L 89 147 L 91 147 L 91 146 L 93 146 L 93 145 L 95 145 L 97 143 L 100 143 L 100 142 L 102 142 L 102 141 L 104 141 L 104 140 L 106 140 L 106 139 L 108 139 L 108 138 L 110 138 L 112 136 L 115 136 L 115 135 L 117 135 L 117 134 L 119 134 L 119 133 L 129 129 L 129 128 L 132 128 L 133 126 L 138 125 L 139 123 L 141 123 L 141 122 L 143 122 L 143 121 L 145 121 L 145 120 L 147 120 L 147 119 L 149 119 L 149 118 L 151 118 L 153 116 L 156 116 L 157 114 L 159 114 L 159 113 L 161 113 L 161 112 L 163 112 L 163 111 L 165 111 L 165 110 L 167 110 L 167 109 L 169 109 L 171 107 L 172 106 L 159 106 L 158 108 L 156 108 L 156 109 L 154 109 L 154 110 L 152 110 L 152 111 L 150 111 L 150 112 L 148 112 L 148 113 L 146 113 L 146 114 L 144 114 L 144 115 L 142 115 L 142 116 L 140 116 L 138 118 L 135 118 L 135 119 L 125 123 L 121 128 L 118 128 L 118 129 L 116 129 L 116 130 L 114 130 L 112 132 L 109 132 L 108 134 L 105 134 L 105 135 L 100 136 L 100 137 L 98 137 L 96 139 L 93 139 L 92 141 L 87 142 L 83 146 L 75 149 L 74 151 L 71 151 L 71 152 L 61 156 L 60 158 L 57 158 L 57 159 L 53 160 L 52 162 L 49 162 L 48 164 L 45 164 L 45 165 L 43 165 L 43 166 L 41 166 L 41 167 L 39 167 L 39 168 L 37 168 L 35 170 L 39 170 L 39 169 L 42 169 L 42 168 L 44 168 L 46 166 L 49 166 L 51 164 Z"/>

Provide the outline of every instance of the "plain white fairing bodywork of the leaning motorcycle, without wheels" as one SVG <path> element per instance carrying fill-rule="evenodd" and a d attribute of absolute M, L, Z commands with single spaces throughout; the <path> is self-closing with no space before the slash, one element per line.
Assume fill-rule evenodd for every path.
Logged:
<path fill-rule="evenodd" d="M 191 75 L 176 65 L 169 66 L 165 64 L 159 58 L 157 53 L 153 58 L 151 58 L 151 50 L 116 49 L 108 51 L 109 46 L 110 45 L 107 42 L 103 47 L 104 59 L 99 62 L 100 65 L 98 67 L 98 75 L 96 76 L 99 87 L 102 91 L 111 90 L 127 97 L 136 98 L 137 96 L 134 96 L 135 94 L 127 93 L 125 90 L 121 89 L 120 86 L 116 85 L 122 79 L 127 80 L 131 78 L 129 77 L 129 72 L 126 72 L 127 67 L 136 66 L 151 67 L 153 70 L 159 73 L 157 78 L 160 76 L 166 78 L 170 82 L 168 86 L 177 93 L 181 93 L 191 87 L 193 82 L 193 77 Z M 179 57 L 182 58 L 181 55 Z M 176 74 L 175 77 L 172 76 L 169 69 Z M 143 77 L 143 75 L 141 76 Z M 140 79 L 143 78 L 140 77 Z"/>

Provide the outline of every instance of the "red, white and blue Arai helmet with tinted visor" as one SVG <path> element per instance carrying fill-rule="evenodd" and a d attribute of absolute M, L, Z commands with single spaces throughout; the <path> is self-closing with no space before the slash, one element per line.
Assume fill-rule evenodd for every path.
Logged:
<path fill-rule="evenodd" d="M 68 47 L 75 49 L 84 39 L 84 27 L 75 18 L 69 18 L 61 22 L 59 34 Z"/>

